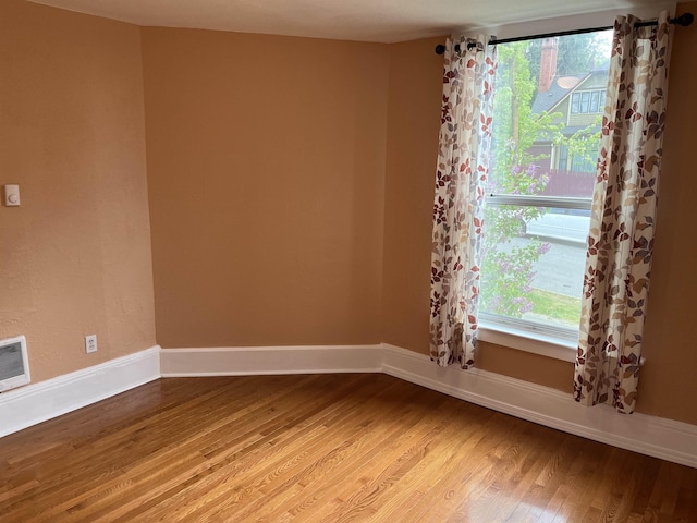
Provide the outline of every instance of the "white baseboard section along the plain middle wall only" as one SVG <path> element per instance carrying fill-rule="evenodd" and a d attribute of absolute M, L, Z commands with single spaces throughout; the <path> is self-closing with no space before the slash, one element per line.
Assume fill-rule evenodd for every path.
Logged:
<path fill-rule="evenodd" d="M 162 349 L 162 377 L 379 373 L 381 345 Z"/>

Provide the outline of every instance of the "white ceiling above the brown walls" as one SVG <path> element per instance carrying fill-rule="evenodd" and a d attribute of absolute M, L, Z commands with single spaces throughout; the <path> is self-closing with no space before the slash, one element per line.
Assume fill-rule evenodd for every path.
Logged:
<path fill-rule="evenodd" d="M 32 0 L 143 26 L 394 42 L 658 0 Z M 608 22 L 608 25 L 611 21 Z M 555 29 L 554 29 L 555 31 Z"/>

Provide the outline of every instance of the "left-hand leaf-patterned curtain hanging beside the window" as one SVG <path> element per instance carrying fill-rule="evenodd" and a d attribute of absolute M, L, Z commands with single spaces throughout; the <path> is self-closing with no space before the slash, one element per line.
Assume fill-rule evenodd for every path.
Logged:
<path fill-rule="evenodd" d="M 493 112 L 496 47 L 488 38 L 448 39 L 433 204 L 431 360 L 474 364 Z M 461 51 L 455 50 L 460 45 Z"/>

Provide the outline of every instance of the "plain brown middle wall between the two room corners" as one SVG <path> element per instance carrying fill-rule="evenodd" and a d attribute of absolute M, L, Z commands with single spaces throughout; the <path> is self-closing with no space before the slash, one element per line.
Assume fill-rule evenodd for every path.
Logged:
<path fill-rule="evenodd" d="M 162 346 L 380 341 L 388 47 L 143 31 Z"/>

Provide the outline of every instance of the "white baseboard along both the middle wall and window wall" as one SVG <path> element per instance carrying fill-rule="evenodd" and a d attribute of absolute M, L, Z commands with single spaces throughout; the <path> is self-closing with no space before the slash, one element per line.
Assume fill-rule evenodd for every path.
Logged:
<path fill-rule="evenodd" d="M 382 372 L 522 419 L 697 467 L 697 426 L 607 405 L 587 408 L 571 393 L 486 370 L 439 367 L 390 344 L 163 349 L 162 376 Z"/>

